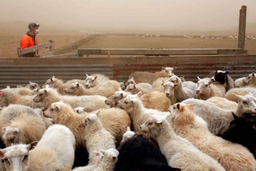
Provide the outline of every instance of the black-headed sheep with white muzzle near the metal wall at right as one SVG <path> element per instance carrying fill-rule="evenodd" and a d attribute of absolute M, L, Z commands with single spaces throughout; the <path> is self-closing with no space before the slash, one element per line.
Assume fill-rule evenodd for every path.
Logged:
<path fill-rule="evenodd" d="M 213 74 L 214 72 L 210 73 L 208 75 L 209 78 L 211 78 L 211 80 L 213 82 L 218 82 L 220 84 L 225 84 L 225 89 L 226 92 L 235 87 L 234 84 L 234 80 L 230 77 L 230 75 L 228 75 L 229 72 L 225 72 L 225 71 L 221 71 L 221 70 L 216 70 L 216 72 Z"/>

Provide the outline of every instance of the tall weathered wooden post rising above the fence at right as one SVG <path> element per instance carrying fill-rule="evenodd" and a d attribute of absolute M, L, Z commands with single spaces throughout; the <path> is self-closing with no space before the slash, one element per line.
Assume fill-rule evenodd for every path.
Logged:
<path fill-rule="evenodd" d="M 239 11 L 238 48 L 241 49 L 245 49 L 246 11 L 245 5 Z"/>

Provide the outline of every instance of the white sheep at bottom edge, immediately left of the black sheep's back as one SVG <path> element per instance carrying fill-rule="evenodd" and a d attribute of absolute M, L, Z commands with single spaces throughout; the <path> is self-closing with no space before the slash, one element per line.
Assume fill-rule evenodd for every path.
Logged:
<path fill-rule="evenodd" d="M 76 167 L 72 171 L 113 171 L 115 164 L 118 160 L 119 152 L 114 149 L 108 149 L 106 151 L 99 150 L 95 153 L 98 157 L 97 163 L 94 165 L 88 165 L 84 167 Z"/>

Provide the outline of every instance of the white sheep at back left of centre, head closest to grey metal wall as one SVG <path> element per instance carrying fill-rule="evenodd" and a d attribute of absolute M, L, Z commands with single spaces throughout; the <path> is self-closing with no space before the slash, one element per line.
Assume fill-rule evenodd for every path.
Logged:
<path fill-rule="evenodd" d="M 92 88 L 97 86 L 99 83 L 109 80 L 109 78 L 106 75 L 102 74 L 92 74 L 88 75 L 86 74 L 85 78 L 85 88 Z"/>

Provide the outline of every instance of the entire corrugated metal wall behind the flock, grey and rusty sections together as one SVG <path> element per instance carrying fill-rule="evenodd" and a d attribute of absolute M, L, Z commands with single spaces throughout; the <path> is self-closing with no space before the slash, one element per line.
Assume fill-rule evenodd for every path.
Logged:
<path fill-rule="evenodd" d="M 29 81 L 42 85 L 52 75 L 64 81 L 84 79 L 85 74 L 101 73 L 118 81 L 127 80 L 135 71 L 156 72 L 161 67 L 178 67 L 175 74 L 185 75 L 186 80 L 196 81 L 196 76 L 206 77 L 214 70 L 229 71 L 235 80 L 256 71 L 254 62 L 231 63 L 165 63 L 165 64 L 76 64 L 76 65 L 0 65 L 0 88 L 16 87 Z"/>

